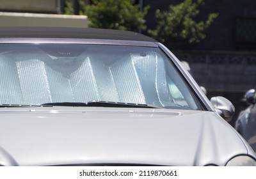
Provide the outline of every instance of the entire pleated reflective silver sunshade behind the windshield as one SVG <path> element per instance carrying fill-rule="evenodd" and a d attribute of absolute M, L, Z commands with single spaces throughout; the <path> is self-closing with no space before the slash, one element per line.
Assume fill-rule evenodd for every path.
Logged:
<path fill-rule="evenodd" d="M 74 63 L 78 65 L 77 68 L 70 67 L 70 72 L 60 70 L 55 63 L 60 61 L 60 65 L 63 65 L 63 61 L 72 59 L 52 58 L 43 52 L 23 54 L 16 57 L 15 62 L 2 58 L 1 80 L 4 74 L 6 81 L 12 78 L 12 83 L 6 82 L 12 86 L 5 86 L 1 90 L 2 93 L 6 90 L 8 94 L 1 98 L 2 104 L 39 105 L 47 102 L 106 100 L 166 106 L 173 102 L 170 92 L 173 92 L 174 98 L 175 93 L 179 92 L 175 85 L 170 86 L 167 82 L 163 58 L 156 52 L 131 53 L 122 59 L 115 57 L 114 63 L 109 64 L 101 58 L 104 57 L 81 54 L 74 58 Z M 13 84 L 17 85 L 13 87 Z"/>

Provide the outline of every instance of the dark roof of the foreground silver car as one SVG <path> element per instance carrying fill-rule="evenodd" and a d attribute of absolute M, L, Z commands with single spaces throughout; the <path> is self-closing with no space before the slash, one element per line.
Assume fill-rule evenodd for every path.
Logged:
<path fill-rule="evenodd" d="M 77 27 L 0 27 L 0 38 L 90 38 L 157 42 L 132 31 Z"/>

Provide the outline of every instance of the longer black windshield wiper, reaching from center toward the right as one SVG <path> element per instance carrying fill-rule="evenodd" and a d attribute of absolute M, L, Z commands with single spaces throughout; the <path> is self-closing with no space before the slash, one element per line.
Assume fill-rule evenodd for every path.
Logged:
<path fill-rule="evenodd" d="M 93 100 L 87 104 L 84 102 L 50 102 L 41 104 L 41 106 L 73 106 L 73 107 L 136 107 L 136 108 L 161 108 L 154 105 L 148 104 L 134 104 L 134 103 L 125 103 L 125 102 L 107 102 L 100 100 Z"/>

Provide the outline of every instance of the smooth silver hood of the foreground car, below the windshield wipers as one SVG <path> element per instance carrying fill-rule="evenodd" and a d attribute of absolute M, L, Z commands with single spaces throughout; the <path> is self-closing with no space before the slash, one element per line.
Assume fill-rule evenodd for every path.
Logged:
<path fill-rule="evenodd" d="M 104 107 L 5 108 L 0 165 L 223 166 L 247 154 L 211 111 Z"/>

